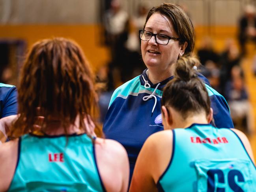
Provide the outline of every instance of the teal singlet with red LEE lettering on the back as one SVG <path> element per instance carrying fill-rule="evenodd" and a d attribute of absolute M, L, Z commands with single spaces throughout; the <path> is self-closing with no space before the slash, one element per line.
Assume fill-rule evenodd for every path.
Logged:
<path fill-rule="evenodd" d="M 105 191 L 92 140 L 86 134 L 19 139 L 17 167 L 9 191 Z"/>

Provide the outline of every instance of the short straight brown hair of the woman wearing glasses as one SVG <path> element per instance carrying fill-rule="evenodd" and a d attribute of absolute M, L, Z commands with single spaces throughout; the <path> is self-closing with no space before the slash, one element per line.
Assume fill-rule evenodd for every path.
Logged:
<path fill-rule="evenodd" d="M 146 17 L 146 22 L 144 24 L 144 29 L 148 22 L 148 19 L 154 13 L 160 13 L 161 15 L 166 16 L 174 27 L 175 32 L 180 38 L 179 44 L 183 45 L 185 41 L 187 42 L 187 48 L 185 49 L 185 55 L 191 55 L 194 49 L 194 27 L 189 19 L 187 13 L 178 5 L 171 3 L 163 3 L 160 6 L 153 7 Z"/>

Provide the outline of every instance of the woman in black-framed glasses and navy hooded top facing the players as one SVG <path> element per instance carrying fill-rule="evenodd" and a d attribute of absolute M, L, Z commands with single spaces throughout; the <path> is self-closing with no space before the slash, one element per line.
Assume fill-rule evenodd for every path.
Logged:
<path fill-rule="evenodd" d="M 194 28 L 180 6 L 161 4 L 153 7 L 139 32 L 142 59 L 147 67 L 142 75 L 117 88 L 110 100 L 103 124 L 107 138 L 120 142 L 128 152 L 130 177 L 145 140 L 163 130 L 161 97 L 166 83 L 173 78 L 178 58 L 191 55 Z M 211 99 L 216 127 L 234 127 L 224 97 L 204 80 Z"/>

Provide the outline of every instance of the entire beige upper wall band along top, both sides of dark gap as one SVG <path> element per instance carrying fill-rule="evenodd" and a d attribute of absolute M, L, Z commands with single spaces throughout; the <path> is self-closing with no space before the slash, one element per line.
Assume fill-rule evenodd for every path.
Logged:
<path fill-rule="evenodd" d="M 0 0 L 2 24 L 96 24 L 106 0 Z M 236 25 L 246 4 L 256 0 L 120 0 L 130 16 L 138 5 L 163 2 L 187 7 L 196 25 Z"/>

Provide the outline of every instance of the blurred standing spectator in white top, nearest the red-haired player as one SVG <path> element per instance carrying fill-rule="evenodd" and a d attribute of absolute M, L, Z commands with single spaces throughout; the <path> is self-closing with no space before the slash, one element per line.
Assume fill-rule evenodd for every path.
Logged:
<path fill-rule="evenodd" d="M 120 82 L 129 75 L 125 70 L 127 62 L 125 43 L 129 34 L 129 15 L 122 9 L 121 0 L 111 0 L 110 9 L 103 16 L 103 25 L 105 42 L 110 48 L 111 55 L 109 73 L 111 73 L 114 83 Z"/>

